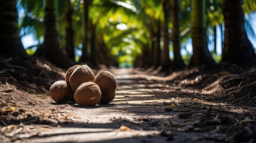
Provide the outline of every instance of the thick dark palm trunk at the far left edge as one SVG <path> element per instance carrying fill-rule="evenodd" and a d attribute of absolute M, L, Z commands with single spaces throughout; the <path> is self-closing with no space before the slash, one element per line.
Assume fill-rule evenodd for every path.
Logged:
<path fill-rule="evenodd" d="M 16 0 L 0 1 L 0 56 L 27 55 L 19 37 Z"/>

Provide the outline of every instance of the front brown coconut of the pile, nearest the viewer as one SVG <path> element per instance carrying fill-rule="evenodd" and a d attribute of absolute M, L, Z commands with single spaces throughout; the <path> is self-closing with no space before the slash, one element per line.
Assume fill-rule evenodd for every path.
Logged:
<path fill-rule="evenodd" d="M 94 106 L 101 99 L 101 90 L 92 81 L 84 82 L 76 89 L 74 98 L 80 106 Z"/>

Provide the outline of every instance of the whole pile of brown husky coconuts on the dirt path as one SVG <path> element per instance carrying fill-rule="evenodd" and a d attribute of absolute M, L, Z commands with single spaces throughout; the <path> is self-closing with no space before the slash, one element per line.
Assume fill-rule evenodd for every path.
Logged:
<path fill-rule="evenodd" d="M 95 76 L 87 65 L 69 68 L 65 80 L 54 82 L 50 96 L 57 103 L 74 98 L 80 106 L 95 106 L 110 103 L 116 95 L 117 79 L 109 71 L 100 71 Z"/>

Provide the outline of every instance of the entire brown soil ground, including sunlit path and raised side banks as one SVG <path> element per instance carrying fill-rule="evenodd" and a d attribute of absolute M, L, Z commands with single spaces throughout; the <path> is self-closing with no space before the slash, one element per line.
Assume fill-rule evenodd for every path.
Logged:
<path fill-rule="evenodd" d="M 1 59 L 1 143 L 256 142 L 255 67 L 93 68 L 101 70 L 117 78 L 115 99 L 81 107 L 49 96 L 67 69 L 34 57 Z"/>

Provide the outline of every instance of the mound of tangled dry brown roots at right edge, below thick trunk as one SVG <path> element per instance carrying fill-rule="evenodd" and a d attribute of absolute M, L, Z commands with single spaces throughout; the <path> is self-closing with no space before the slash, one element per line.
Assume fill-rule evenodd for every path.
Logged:
<path fill-rule="evenodd" d="M 256 106 L 256 68 L 253 67 L 240 74 L 219 77 L 215 82 L 202 89 L 202 94 L 212 95 L 206 97 L 209 100 L 225 99 L 231 104 Z"/>

